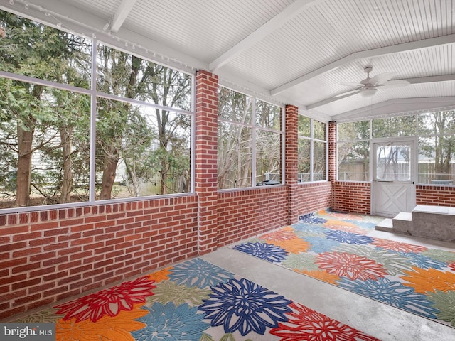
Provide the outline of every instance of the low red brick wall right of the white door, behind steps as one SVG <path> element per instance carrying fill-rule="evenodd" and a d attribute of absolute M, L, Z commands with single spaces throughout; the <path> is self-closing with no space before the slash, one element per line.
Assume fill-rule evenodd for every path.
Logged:
<path fill-rule="evenodd" d="M 417 205 L 436 205 L 455 207 L 455 187 L 417 185 Z"/>

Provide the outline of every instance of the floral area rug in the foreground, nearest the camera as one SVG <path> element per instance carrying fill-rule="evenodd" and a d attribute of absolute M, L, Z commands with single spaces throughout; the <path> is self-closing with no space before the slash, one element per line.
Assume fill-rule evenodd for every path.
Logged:
<path fill-rule="evenodd" d="M 378 340 L 200 258 L 16 322 L 59 341 Z"/>

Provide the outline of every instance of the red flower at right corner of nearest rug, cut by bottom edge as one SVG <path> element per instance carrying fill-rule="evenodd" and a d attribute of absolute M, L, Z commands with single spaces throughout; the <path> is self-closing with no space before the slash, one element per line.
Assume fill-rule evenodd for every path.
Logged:
<path fill-rule="evenodd" d="M 379 341 L 299 303 L 293 302 L 289 308 L 292 309 L 286 314 L 289 320 L 270 331 L 281 341 Z"/>

